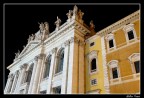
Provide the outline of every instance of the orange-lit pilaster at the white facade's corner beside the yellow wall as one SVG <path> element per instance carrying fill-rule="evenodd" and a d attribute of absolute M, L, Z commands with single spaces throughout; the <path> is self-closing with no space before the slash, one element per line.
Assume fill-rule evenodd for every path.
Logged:
<path fill-rule="evenodd" d="M 84 94 L 84 45 L 83 41 L 79 42 L 79 93 Z"/>

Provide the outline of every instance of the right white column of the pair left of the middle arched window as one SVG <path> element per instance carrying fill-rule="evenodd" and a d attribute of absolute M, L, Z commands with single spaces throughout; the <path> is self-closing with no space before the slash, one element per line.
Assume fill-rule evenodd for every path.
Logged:
<path fill-rule="evenodd" d="M 44 56 L 45 56 L 45 54 L 40 54 L 38 56 L 38 63 L 37 63 L 37 67 L 36 67 L 35 77 L 33 80 L 33 86 L 32 86 L 32 90 L 31 90 L 31 94 L 37 94 L 38 93 L 37 88 L 38 88 L 38 84 L 39 84 L 41 64 L 42 64 L 42 60 L 43 60 Z"/>

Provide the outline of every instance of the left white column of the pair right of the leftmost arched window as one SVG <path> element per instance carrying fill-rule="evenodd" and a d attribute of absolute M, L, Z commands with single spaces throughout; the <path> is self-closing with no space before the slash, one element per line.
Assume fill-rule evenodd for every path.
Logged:
<path fill-rule="evenodd" d="M 35 72 L 36 72 L 36 67 L 37 67 L 37 62 L 38 62 L 38 57 L 36 56 L 34 58 L 34 60 L 35 60 L 35 62 L 34 62 L 31 81 L 30 81 L 30 85 L 29 85 L 29 89 L 28 89 L 28 94 L 31 94 L 31 90 L 32 90 L 33 82 L 34 82 L 34 77 L 35 77 Z"/>

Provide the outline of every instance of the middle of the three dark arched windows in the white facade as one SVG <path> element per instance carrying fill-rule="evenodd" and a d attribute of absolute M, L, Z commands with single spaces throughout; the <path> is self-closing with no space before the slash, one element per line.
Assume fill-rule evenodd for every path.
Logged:
<path fill-rule="evenodd" d="M 51 65 L 51 55 L 48 57 L 48 59 L 45 63 L 44 78 L 49 76 L 50 65 Z"/>

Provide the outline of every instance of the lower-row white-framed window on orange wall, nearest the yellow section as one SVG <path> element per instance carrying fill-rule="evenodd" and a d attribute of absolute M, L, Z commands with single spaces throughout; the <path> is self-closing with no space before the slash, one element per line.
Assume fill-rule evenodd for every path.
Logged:
<path fill-rule="evenodd" d="M 108 63 L 109 71 L 110 71 L 110 78 L 116 79 L 120 77 L 120 70 L 118 67 L 118 61 L 117 60 L 111 60 Z"/>

